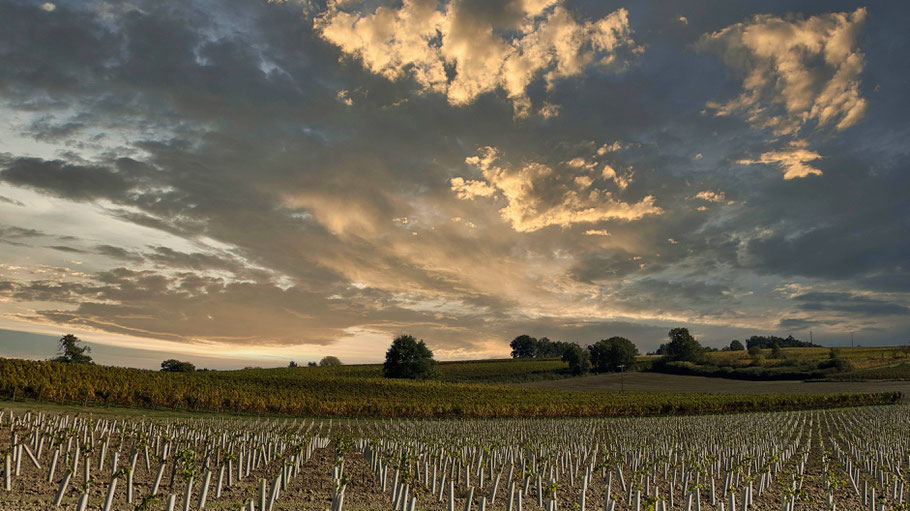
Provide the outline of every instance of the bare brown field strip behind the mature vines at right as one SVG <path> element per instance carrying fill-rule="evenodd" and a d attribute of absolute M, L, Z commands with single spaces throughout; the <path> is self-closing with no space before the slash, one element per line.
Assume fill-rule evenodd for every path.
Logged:
<path fill-rule="evenodd" d="M 910 397 L 910 381 L 749 381 L 663 373 L 607 373 L 567 380 L 522 384 L 549 390 L 619 392 L 692 392 L 721 394 L 828 394 L 838 392 L 901 392 Z"/>

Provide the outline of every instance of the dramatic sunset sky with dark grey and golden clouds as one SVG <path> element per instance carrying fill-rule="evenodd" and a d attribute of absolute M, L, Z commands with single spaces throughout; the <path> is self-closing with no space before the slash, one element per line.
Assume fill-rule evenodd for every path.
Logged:
<path fill-rule="evenodd" d="M 910 5 L 0 0 L 0 356 L 910 342 Z"/>

